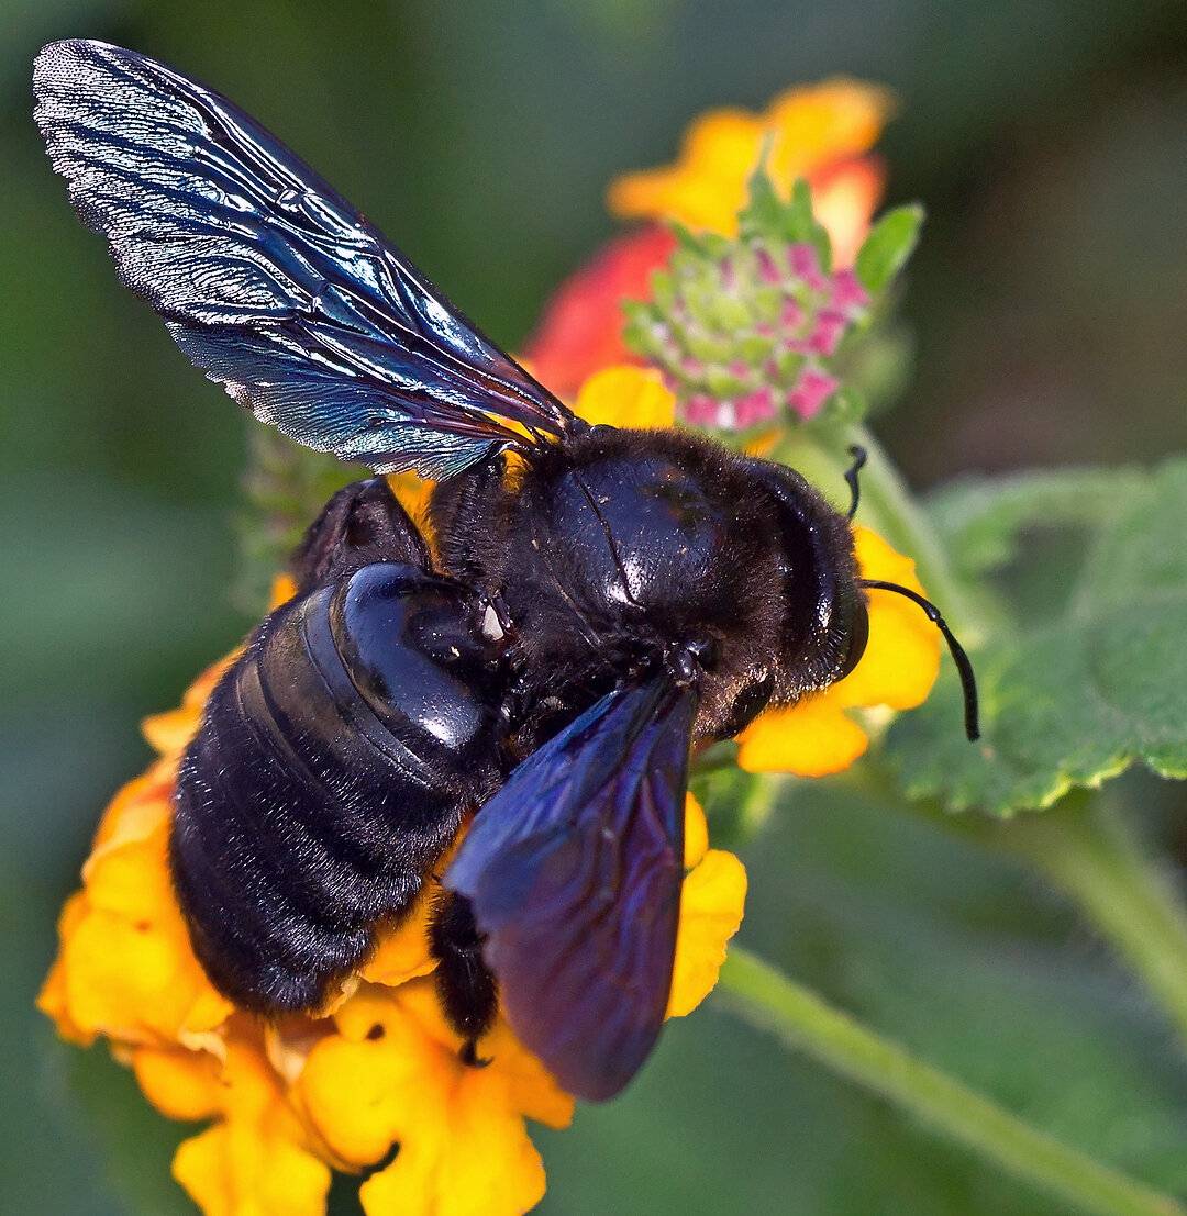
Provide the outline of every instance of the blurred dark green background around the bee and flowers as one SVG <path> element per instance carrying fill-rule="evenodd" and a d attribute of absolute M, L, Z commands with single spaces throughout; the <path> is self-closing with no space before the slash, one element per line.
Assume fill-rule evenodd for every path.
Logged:
<path fill-rule="evenodd" d="M 1187 446 L 1182 0 L 0 0 L 0 1211 L 189 1210 L 168 1178 L 184 1130 L 32 1000 L 99 811 L 147 759 L 137 721 L 249 624 L 227 593 L 244 421 L 67 207 L 29 117 L 43 43 L 122 43 L 229 94 L 512 348 L 612 231 L 607 181 L 668 159 L 698 111 L 884 81 L 902 101 L 890 201 L 930 214 L 915 377 L 879 420 L 912 480 Z M 1187 1189 L 1187 1069 L 1058 900 L 823 788 L 752 854 L 755 948 Z M 713 1003 L 623 1100 L 539 1141 L 551 1214 L 1057 1210 Z M 347 1188 L 334 1204 L 353 1210 Z"/>

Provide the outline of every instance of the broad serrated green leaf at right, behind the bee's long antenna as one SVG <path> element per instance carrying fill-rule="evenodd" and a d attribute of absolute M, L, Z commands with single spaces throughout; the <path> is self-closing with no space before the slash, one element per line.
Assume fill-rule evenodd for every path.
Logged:
<path fill-rule="evenodd" d="M 1187 777 L 1187 462 L 963 488 L 936 511 L 983 569 L 1024 559 L 1034 529 L 1073 523 L 1086 539 L 1047 590 L 1057 609 L 1016 613 L 974 654 L 978 744 L 961 737 L 947 664 L 927 705 L 895 722 L 887 751 L 906 793 L 1009 815 L 1133 764 Z"/>

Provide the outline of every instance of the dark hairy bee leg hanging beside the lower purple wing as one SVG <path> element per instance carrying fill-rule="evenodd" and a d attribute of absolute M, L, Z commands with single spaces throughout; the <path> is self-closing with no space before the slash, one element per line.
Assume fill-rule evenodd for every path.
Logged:
<path fill-rule="evenodd" d="M 433 910 L 429 952 L 437 959 L 437 995 L 445 1019 L 462 1036 L 459 1055 L 471 1068 L 490 1060 L 478 1054 L 478 1040 L 490 1030 L 499 1009 L 499 989 L 483 962 L 482 935 L 474 924 L 469 900 L 452 891 Z"/>

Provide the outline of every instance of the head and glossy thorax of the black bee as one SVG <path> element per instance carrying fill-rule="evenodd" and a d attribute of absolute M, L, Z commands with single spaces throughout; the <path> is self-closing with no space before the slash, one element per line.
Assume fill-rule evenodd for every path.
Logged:
<path fill-rule="evenodd" d="M 539 502 L 549 564 L 600 635 L 693 664 L 701 738 L 827 687 L 865 651 L 849 523 L 782 466 L 686 432 L 597 428 Z"/>

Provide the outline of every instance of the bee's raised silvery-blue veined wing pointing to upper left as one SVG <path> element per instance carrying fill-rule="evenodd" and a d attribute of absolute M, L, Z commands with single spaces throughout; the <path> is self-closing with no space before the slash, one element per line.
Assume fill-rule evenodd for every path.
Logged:
<path fill-rule="evenodd" d="M 44 47 L 33 89 L 54 168 L 120 278 L 257 417 L 377 472 L 437 478 L 574 422 L 225 97 L 83 40 Z"/>

